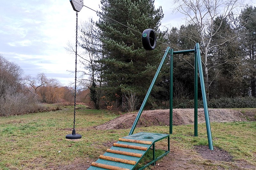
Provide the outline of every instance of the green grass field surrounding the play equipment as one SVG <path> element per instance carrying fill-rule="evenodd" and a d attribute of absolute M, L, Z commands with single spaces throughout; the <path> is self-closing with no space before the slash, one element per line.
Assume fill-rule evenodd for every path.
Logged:
<path fill-rule="evenodd" d="M 77 141 L 66 140 L 73 127 L 73 107 L 62 110 L 0 118 L 0 169 L 58 169 L 76 159 L 95 161 L 109 148 L 106 144 L 127 136 L 130 129 L 95 130 L 92 127 L 108 122 L 118 115 L 105 110 L 76 110 Z M 245 160 L 256 166 L 256 122 L 211 123 L 214 147 L 229 152 L 233 160 Z M 169 127 L 137 128 L 135 132 L 168 133 Z M 193 137 L 193 125 L 174 126 L 172 147 L 183 150 L 194 145 L 208 145 L 205 124 L 198 125 L 198 137 Z M 166 141 L 160 145 L 166 145 Z M 192 160 L 193 161 L 193 160 Z M 197 164 L 205 164 L 198 161 Z M 213 169 L 216 165 L 208 165 Z M 226 163 L 220 165 L 229 168 Z M 231 166 L 232 167 L 232 166 Z"/>

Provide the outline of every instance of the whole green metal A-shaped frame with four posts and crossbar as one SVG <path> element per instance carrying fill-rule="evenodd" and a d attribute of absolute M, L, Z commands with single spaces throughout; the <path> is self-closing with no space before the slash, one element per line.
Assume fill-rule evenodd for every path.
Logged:
<path fill-rule="evenodd" d="M 204 116 L 205 116 L 205 124 L 206 124 L 206 130 L 207 130 L 207 138 L 208 138 L 208 145 L 209 149 L 213 150 L 213 144 L 212 144 L 212 132 L 211 132 L 211 126 L 210 126 L 210 119 L 209 119 L 209 112 L 208 112 L 208 106 L 207 106 L 207 100 L 206 100 L 206 93 L 205 93 L 205 86 L 204 86 L 204 75 L 203 75 L 203 67 L 202 67 L 202 61 L 201 61 L 201 54 L 200 54 L 200 47 L 199 43 L 196 43 L 196 46 L 194 49 L 189 50 L 181 50 L 181 51 L 173 51 L 173 49 L 170 49 L 170 47 L 166 48 L 166 51 L 164 53 L 163 59 L 156 71 L 156 74 L 153 78 L 153 81 L 148 89 L 148 92 L 145 96 L 145 99 L 140 107 L 140 110 L 138 112 L 138 115 L 132 125 L 132 129 L 129 133 L 129 135 L 132 135 L 134 132 L 134 129 L 140 119 L 140 115 L 146 105 L 146 102 L 148 101 L 148 97 L 153 89 L 153 86 L 156 82 L 156 78 L 159 75 L 159 72 L 164 64 L 165 58 L 167 54 L 170 54 L 170 128 L 169 133 L 172 134 L 172 100 L 173 100 L 173 55 L 175 54 L 187 54 L 187 53 L 195 53 L 195 93 L 194 93 L 194 135 L 197 136 L 197 92 L 198 92 L 198 70 L 199 70 L 199 77 L 200 77 L 200 83 L 201 83 L 201 90 L 202 90 L 202 96 L 203 96 L 203 103 L 204 103 Z"/>

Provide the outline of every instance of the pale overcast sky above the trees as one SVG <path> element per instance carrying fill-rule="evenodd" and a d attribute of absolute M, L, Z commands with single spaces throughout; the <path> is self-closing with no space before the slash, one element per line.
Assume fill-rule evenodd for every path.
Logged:
<path fill-rule="evenodd" d="M 162 6 L 162 25 L 181 25 L 181 16 L 172 14 L 172 0 L 155 0 Z M 256 4 L 256 0 L 252 0 Z M 100 0 L 84 5 L 99 10 Z M 97 15 L 85 7 L 78 20 Z M 75 56 L 65 50 L 68 41 L 75 43 L 76 12 L 69 0 L 7 0 L 0 5 L 0 53 L 20 65 L 26 75 L 45 73 L 58 79 L 62 85 L 74 82 Z M 79 69 L 79 68 L 78 68 Z"/>

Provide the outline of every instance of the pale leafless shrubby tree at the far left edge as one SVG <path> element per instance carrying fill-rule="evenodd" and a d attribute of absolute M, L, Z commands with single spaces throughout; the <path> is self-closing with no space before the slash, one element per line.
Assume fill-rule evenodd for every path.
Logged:
<path fill-rule="evenodd" d="M 38 109 L 38 99 L 22 91 L 23 70 L 0 54 L 0 116 L 31 113 Z"/>

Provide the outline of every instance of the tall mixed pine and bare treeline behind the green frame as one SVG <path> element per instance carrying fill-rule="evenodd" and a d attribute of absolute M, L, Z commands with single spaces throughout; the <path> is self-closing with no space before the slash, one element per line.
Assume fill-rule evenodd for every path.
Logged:
<path fill-rule="evenodd" d="M 186 24 L 179 28 L 160 29 L 164 14 L 161 7 L 155 8 L 154 0 L 101 0 L 100 19 L 79 26 L 83 52 L 78 55 L 84 65 L 79 85 L 90 90 L 94 107 L 138 109 L 166 47 L 193 49 L 196 42 L 209 105 L 255 107 L 256 8 L 238 0 L 174 3 L 178 4 L 174 11 L 185 16 Z M 148 28 L 156 31 L 158 40 L 153 51 L 142 47 L 141 33 Z M 72 51 L 72 45 L 68 49 Z M 169 64 L 166 59 L 148 100 L 149 109 L 168 108 Z M 194 54 L 174 56 L 173 65 L 174 107 L 193 107 Z M 229 105 L 222 106 L 223 102 Z"/>

